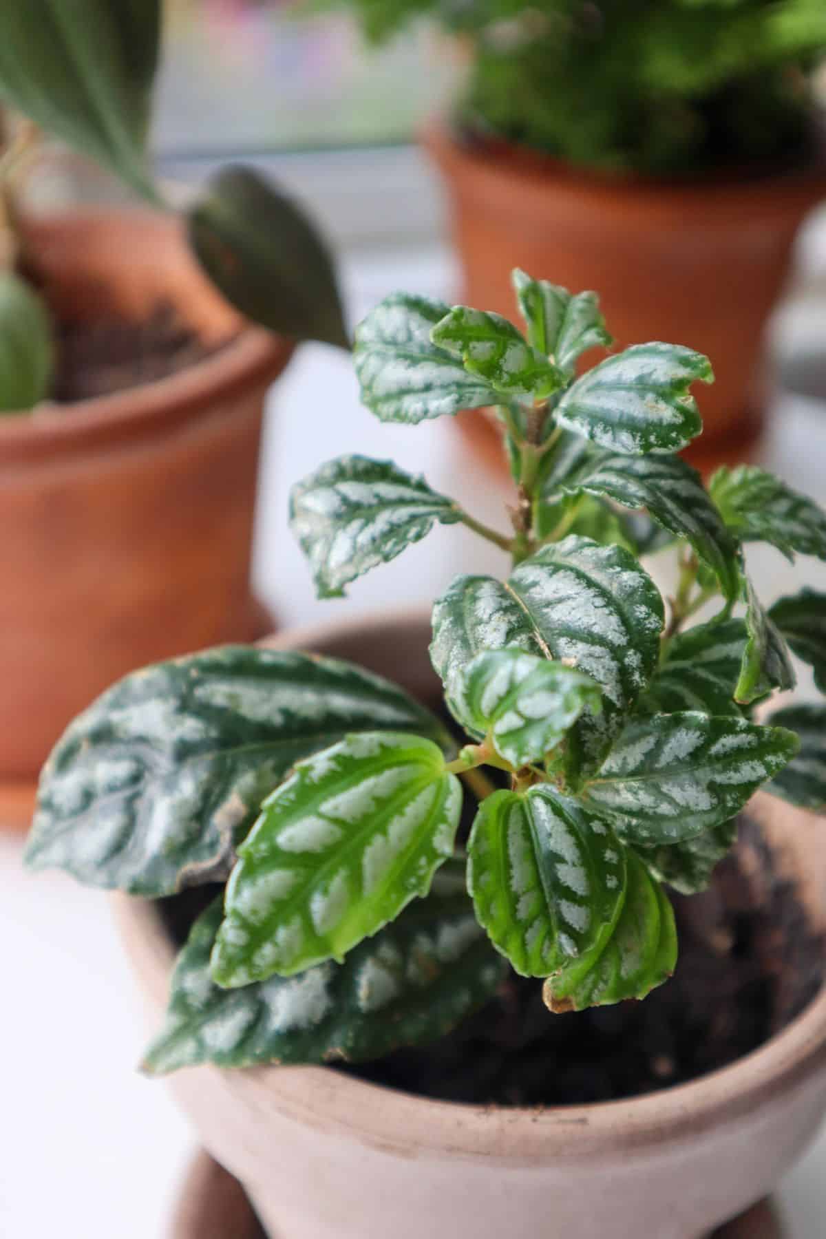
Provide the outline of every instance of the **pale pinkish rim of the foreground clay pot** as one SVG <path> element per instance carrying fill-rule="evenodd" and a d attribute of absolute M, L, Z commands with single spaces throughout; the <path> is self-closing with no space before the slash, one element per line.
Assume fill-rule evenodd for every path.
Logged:
<path fill-rule="evenodd" d="M 266 638 L 274 649 L 323 652 L 354 639 L 369 641 L 376 629 L 399 624 L 430 626 L 430 611 L 416 608 L 367 613 L 343 623 L 322 622 Z M 774 798 L 758 793 L 752 809 L 764 817 Z M 802 810 L 784 805 L 784 813 Z M 810 815 L 804 815 L 810 817 Z M 144 983 L 152 997 L 165 1004 L 175 950 L 151 903 L 114 896 L 116 917 Z M 674 1145 L 697 1132 L 717 1127 L 760 1106 L 778 1092 L 804 1087 L 826 1069 L 826 983 L 809 1006 L 788 1027 L 759 1049 L 689 1084 L 663 1089 L 629 1100 L 580 1106 L 495 1108 L 458 1101 L 437 1101 L 354 1079 L 323 1067 L 201 1067 L 223 1077 L 244 1077 L 261 1109 L 267 1094 L 277 1094 L 277 1108 L 298 1121 L 339 1131 L 393 1149 L 404 1156 L 433 1150 L 440 1156 L 484 1158 L 519 1165 L 617 1152 L 617 1141 L 630 1154 L 651 1145 Z M 308 1082 L 311 1088 L 307 1087 Z M 270 1105 L 275 1105 L 275 1095 Z"/>

